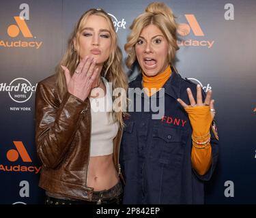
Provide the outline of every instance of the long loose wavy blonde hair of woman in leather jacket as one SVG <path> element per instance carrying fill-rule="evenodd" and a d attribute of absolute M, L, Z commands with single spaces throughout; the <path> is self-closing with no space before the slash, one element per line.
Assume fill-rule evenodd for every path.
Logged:
<path fill-rule="evenodd" d="M 60 63 L 55 68 L 55 75 L 57 81 L 57 88 L 59 91 L 59 95 L 61 99 L 67 92 L 66 87 L 66 78 L 61 68 L 61 65 L 66 66 L 71 76 L 74 74 L 76 67 L 79 65 L 79 46 L 74 49 L 74 39 L 76 42 L 79 42 L 79 37 L 81 35 L 81 31 L 83 30 L 83 25 L 85 24 L 87 18 L 90 15 L 102 16 L 109 23 L 110 27 L 110 35 L 111 35 L 111 52 L 109 55 L 109 59 L 105 61 L 102 71 L 100 72 L 101 76 L 104 76 L 109 82 L 112 82 L 113 90 L 115 88 L 122 88 L 127 91 L 128 89 L 128 80 L 126 74 L 124 73 L 124 65 L 122 63 L 122 51 L 117 45 L 117 35 L 115 33 L 115 27 L 113 26 L 113 22 L 109 14 L 107 14 L 102 9 L 90 9 L 85 12 L 76 25 L 74 27 L 74 31 L 72 31 L 70 38 L 68 40 L 68 46 L 65 54 L 63 55 Z M 117 99 L 117 97 L 113 97 L 113 100 Z M 119 98 L 121 99 L 121 104 L 126 104 L 126 97 Z M 124 112 L 120 110 L 119 112 L 113 112 L 115 119 L 118 121 L 119 126 L 124 126 L 123 116 Z"/>

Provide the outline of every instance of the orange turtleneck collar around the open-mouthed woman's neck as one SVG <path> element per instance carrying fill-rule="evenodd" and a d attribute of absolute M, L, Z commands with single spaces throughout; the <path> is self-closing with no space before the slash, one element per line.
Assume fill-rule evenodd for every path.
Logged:
<path fill-rule="evenodd" d="M 165 69 L 164 72 L 156 75 L 156 76 L 147 76 L 144 72 L 142 73 L 142 80 L 143 80 L 143 88 L 146 89 L 146 93 L 148 96 L 154 95 L 157 91 L 159 91 L 165 84 L 165 82 L 170 78 L 171 76 L 171 67 L 168 65 L 168 67 Z"/>

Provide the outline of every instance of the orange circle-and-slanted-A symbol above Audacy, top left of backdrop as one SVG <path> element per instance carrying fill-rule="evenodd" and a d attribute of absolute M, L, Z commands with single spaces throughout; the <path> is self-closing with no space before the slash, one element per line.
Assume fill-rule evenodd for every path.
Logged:
<path fill-rule="evenodd" d="M 16 20 L 17 25 L 10 25 L 7 29 L 7 33 L 10 37 L 16 37 L 20 31 L 23 33 L 24 37 L 33 37 L 23 17 L 14 16 L 14 20 Z"/>

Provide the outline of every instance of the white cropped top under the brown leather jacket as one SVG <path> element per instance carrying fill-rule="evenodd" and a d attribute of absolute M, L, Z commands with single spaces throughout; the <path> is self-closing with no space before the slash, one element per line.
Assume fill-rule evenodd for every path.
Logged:
<path fill-rule="evenodd" d="M 113 153 L 113 139 L 117 135 L 118 124 L 113 121 L 112 95 L 109 82 L 102 77 L 106 86 L 104 97 L 89 97 L 91 103 L 91 147 L 90 157 Z"/>

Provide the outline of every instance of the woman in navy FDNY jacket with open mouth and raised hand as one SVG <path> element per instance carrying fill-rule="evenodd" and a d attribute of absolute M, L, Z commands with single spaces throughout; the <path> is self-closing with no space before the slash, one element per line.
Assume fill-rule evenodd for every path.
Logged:
<path fill-rule="evenodd" d="M 130 82 L 119 157 L 124 204 L 203 204 L 218 159 L 212 91 L 173 67 L 177 24 L 167 5 L 151 3 L 130 29 L 126 64 L 139 63 L 141 74 Z"/>

